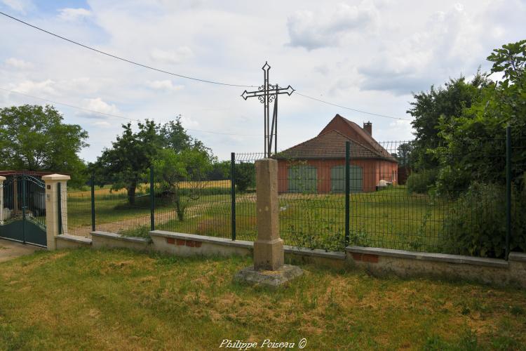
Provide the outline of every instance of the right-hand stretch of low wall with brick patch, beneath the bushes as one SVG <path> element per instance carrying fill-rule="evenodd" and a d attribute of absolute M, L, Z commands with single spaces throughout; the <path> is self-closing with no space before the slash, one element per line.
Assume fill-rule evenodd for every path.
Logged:
<path fill-rule="evenodd" d="M 506 261 L 361 246 L 349 246 L 346 252 L 350 265 L 377 275 L 454 278 L 526 287 L 526 253 L 511 253 Z"/>

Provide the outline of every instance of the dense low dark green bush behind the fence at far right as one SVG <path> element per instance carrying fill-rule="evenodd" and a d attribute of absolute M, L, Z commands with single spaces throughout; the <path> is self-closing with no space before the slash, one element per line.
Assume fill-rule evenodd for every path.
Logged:
<path fill-rule="evenodd" d="M 512 196 L 510 249 L 526 251 L 526 191 Z M 506 252 L 506 188 L 503 185 L 474 183 L 461 194 L 445 218 L 447 253 L 504 258 Z"/>

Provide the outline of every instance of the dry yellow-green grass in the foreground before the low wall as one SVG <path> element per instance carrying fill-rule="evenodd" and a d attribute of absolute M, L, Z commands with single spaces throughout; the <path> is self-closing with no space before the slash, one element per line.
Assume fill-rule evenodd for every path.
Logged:
<path fill-rule="evenodd" d="M 313 265 L 278 291 L 232 283 L 250 264 L 87 249 L 0 263 L 0 349 L 526 349 L 525 291 Z"/>

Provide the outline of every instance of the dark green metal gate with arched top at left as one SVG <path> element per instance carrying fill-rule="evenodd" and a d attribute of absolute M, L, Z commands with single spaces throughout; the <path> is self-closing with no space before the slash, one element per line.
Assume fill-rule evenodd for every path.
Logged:
<path fill-rule="evenodd" d="M 46 187 L 28 174 L 4 181 L 4 211 L 0 237 L 46 247 Z"/>

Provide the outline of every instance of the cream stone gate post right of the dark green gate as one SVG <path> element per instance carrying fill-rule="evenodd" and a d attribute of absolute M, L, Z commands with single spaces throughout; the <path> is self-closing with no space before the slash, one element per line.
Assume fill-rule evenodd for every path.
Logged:
<path fill-rule="evenodd" d="M 50 174 L 49 176 L 43 176 L 42 180 L 46 183 L 46 237 L 48 250 L 55 250 L 55 236 L 59 232 L 59 220 L 58 216 L 61 216 L 65 212 L 67 213 L 67 193 L 65 191 L 60 192 L 58 187 L 60 183 L 67 183 L 71 179 L 69 176 L 63 176 L 62 174 Z M 60 194 L 62 213 L 58 213 L 58 194 Z M 63 220 L 64 224 L 67 225 L 67 221 Z M 65 231 L 62 231 L 65 232 Z"/>

